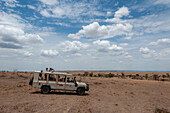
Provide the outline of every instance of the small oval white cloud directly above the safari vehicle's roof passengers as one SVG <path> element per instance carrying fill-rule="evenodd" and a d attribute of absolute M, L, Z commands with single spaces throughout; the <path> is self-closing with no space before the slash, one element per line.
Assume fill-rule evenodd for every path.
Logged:
<path fill-rule="evenodd" d="M 46 57 L 52 57 L 52 56 L 58 56 L 59 52 L 57 50 L 42 50 L 41 51 L 41 55 L 42 56 L 46 56 Z"/>

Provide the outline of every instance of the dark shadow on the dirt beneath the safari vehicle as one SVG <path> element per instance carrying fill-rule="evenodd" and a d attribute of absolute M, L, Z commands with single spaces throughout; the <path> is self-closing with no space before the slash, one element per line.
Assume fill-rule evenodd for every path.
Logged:
<path fill-rule="evenodd" d="M 30 94 L 42 94 L 41 91 L 35 91 L 31 92 Z M 49 94 L 42 94 L 42 95 L 77 95 L 77 96 L 88 96 L 88 93 L 85 93 L 84 95 L 78 95 L 75 92 L 59 92 L 59 91 L 51 91 Z"/>

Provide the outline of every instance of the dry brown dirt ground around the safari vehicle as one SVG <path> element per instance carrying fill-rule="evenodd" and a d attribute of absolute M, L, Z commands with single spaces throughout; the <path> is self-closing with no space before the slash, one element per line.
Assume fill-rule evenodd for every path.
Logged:
<path fill-rule="evenodd" d="M 154 113 L 170 111 L 170 82 L 83 77 L 90 91 L 41 94 L 28 85 L 32 73 L 0 73 L 0 113 Z"/>

